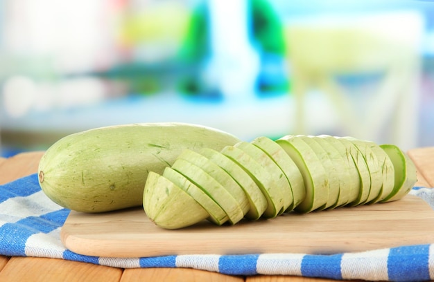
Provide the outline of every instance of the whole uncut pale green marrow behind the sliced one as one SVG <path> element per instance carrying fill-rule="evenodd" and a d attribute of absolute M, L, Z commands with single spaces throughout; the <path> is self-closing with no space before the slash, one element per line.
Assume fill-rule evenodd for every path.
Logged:
<path fill-rule="evenodd" d="M 184 149 L 239 142 L 224 131 L 184 123 L 123 124 L 67 135 L 46 150 L 38 176 L 53 202 L 78 212 L 140 206 L 149 171 L 162 173 Z"/>

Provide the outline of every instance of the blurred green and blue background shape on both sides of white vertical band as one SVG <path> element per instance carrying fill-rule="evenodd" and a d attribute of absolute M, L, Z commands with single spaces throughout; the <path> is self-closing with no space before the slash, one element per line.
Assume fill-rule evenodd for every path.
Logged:
<path fill-rule="evenodd" d="M 286 73 L 284 29 L 279 15 L 267 0 L 249 1 L 250 22 L 246 23 L 251 44 L 261 56 L 261 71 L 257 78 L 259 95 L 263 93 L 288 93 L 289 79 Z M 185 95 L 221 97 L 201 81 L 200 72 L 204 59 L 210 55 L 209 11 L 207 2 L 193 10 L 187 34 L 178 58 L 190 72 L 180 78 L 179 89 Z M 258 94 L 258 93 L 256 93 Z"/>

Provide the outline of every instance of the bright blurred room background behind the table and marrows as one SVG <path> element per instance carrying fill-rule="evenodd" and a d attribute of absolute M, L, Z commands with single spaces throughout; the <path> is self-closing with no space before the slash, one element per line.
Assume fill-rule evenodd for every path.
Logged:
<path fill-rule="evenodd" d="M 434 2 L 0 0 L 1 156 L 134 122 L 434 146 Z"/>

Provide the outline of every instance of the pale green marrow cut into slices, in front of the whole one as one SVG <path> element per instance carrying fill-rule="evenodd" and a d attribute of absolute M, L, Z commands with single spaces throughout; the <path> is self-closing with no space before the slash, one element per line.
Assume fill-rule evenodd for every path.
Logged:
<path fill-rule="evenodd" d="M 184 181 L 166 173 L 173 169 Z M 286 135 L 275 141 L 259 137 L 220 151 L 185 150 L 173 169 L 167 167 L 161 177 L 175 186 L 167 189 L 166 180 L 148 178 L 143 198 L 148 217 L 170 229 L 205 218 L 217 225 L 235 224 L 242 218 L 258 220 L 283 213 L 385 203 L 403 198 L 417 180 L 415 165 L 398 147 L 330 135 Z M 192 182 L 200 193 L 191 192 Z M 191 196 L 186 202 L 193 198 L 199 205 L 190 208 L 166 196 L 182 194 L 177 189 Z M 162 195 L 164 190 L 168 194 Z M 169 203 L 173 203 L 172 217 Z M 180 207 L 188 209 L 191 219 L 183 218 L 189 213 L 181 212 Z"/>

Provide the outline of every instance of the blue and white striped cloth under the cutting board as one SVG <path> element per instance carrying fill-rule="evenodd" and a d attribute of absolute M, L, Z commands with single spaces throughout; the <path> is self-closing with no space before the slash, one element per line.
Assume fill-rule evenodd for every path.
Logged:
<path fill-rule="evenodd" d="M 434 207 L 434 189 L 411 194 Z M 147 258 L 83 256 L 67 250 L 60 228 L 68 209 L 55 205 L 41 191 L 37 175 L 0 186 L 0 254 L 83 261 L 112 267 L 191 267 L 232 275 L 285 274 L 367 281 L 429 281 L 434 279 L 434 242 L 368 252 L 312 254 L 191 254 Z"/>

